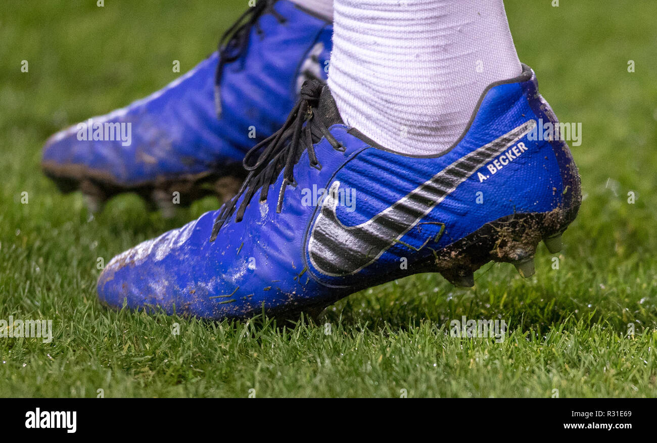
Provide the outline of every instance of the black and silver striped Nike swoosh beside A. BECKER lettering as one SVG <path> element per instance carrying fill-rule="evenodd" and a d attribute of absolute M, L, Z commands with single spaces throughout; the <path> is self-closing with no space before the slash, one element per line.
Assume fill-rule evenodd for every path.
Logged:
<path fill-rule="evenodd" d="M 536 125 L 529 120 L 502 137 L 459 158 L 392 206 L 356 226 L 338 220 L 340 182 L 330 186 L 308 240 L 310 263 L 327 276 L 356 274 L 395 243 L 476 171 L 503 154 Z"/>

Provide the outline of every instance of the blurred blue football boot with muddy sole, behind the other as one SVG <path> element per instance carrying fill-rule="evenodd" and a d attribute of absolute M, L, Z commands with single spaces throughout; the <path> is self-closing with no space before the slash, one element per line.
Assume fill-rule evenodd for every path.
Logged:
<path fill-rule="evenodd" d="M 51 137 L 42 166 L 91 209 L 137 192 L 163 209 L 211 192 L 224 200 L 254 145 L 283 125 L 306 79 L 327 77 L 332 24 L 286 0 L 259 0 L 219 51 L 164 89 Z"/>

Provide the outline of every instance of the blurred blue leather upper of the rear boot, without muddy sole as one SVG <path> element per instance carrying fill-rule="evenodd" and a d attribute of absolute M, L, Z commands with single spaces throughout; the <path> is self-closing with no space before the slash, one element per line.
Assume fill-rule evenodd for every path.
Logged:
<path fill-rule="evenodd" d="M 332 25 L 279 0 L 286 21 L 263 14 L 261 33 L 252 28 L 242 58 L 225 65 L 221 81 L 221 118 L 215 108 L 215 52 L 164 89 L 94 123 L 131 123 L 131 144 L 120 140 L 78 140 L 78 126 L 51 137 L 43 164 L 81 167 L 85 175 L 121 186 L 176 179 L 242 161 L 244 153 L 278 129 L 296 102 L 298 77 L 311 55 L 325 66 Z M 315 70 L 323 78 L 324 69 Z M 255 131 L 256 138 L 250 138 Z"/>

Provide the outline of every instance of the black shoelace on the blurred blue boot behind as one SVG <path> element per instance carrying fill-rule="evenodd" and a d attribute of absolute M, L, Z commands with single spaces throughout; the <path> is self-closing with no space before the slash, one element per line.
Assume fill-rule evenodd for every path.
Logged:
<path fill-rule="evenodd" d="M 218 47 L 219 66 L 217 66 L 217 73 L 215 74 L 214 80 L 217 110 L 221 109 L 221 95 L 219 88 L 221 87 L 223 68 L 226 64 L 233 63 L 244 55 L 248 48 L 251 28 L 256 28 L 256 33 L 260 36 L 264 34 L 258 24 L 260 16 L 269 13 L 275 16 L 279 23 L 286 22 L 287 19 L 274 9 L 274 3 L 276 3 L 276 0 L 258 0 L 255 6 L 249 7 L 249 9 L 237 19 L 237 22 L 235 22 L 235 24 L 233 24 L 233 26 L 221 36 Z"/>

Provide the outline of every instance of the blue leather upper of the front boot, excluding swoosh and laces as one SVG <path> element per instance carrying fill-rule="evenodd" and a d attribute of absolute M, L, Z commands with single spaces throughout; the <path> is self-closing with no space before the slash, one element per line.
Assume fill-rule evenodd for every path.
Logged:
<path fill-rule="evenodd" d="M 169 313 L 175 305 L 179 313 L 204 318 L 251 316 L 263 306 L 270 314 L 295 306 L 326 306 L 363 287 L 405 275 L 400 257 L 407 258 L 412 270 L 432 255 L 431 249 L 442 249 L 486 222 L 560 207 L 573 189 L 568 182 L 573 176 L 564 171 L 574 167 L 568 148 L 563 142 L 532 141 L 522 135 L 514 140 L 526 148 L 522 155 L 507 158 L 494 174 L 487 165 L 470 171 L 399 242 L 359 272 L 327 275 L 309 257 L 309 238 L 322 208 L 302 204 L 304 190 L 313 185 L 328 190 L 336 182 L 353 189 L 355 211 L 338 205 L 336 217 L 345 226 L 367 223 L 482 146 L 528 122 L 541 117 L 547 121 L 551 116 L 541 110 L 540 100 L 533 75 L 492 87 L 464 137 L 432 158 L 388 152 L 355 137 L 345 125 L 333 125 L 330 133 L 346 151 L 335 150 L 322 138 L 315 144 L 321 169 L 310 167 L 304 152 L 294 169 L 296 186 L 284 190 L 281 213 L 276 205 L 282 173 L 267 201 L 259 202 L 256 193 L 244 219 L 229 219 L 214 242 L 209 239 L 218 211 L 114 258 L 99 279 L 99 297 L 110 306 L 122 306 L 125 299 L 130 308 L 160 306 Z M 478 192 L 483 204 L 476 203 Z"/>

